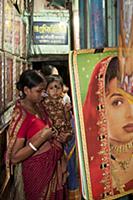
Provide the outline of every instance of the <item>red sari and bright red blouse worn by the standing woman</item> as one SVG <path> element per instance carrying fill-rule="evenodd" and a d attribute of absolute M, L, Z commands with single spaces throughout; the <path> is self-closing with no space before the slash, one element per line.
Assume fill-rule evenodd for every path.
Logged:
<path fill-rule="evenodd" d="M 46 115 L 43 116 L 46 117 Z M 8 131 L 10 139 L 7 149 L 7 167 L 10 165 L 10 155 L 16 138 L 24 138 L 25 141 L 28 141 L 47 123 L 49 123 L 48 118 L 40 119 L 27 112 L 19 101 L 16 103 Z M 30 156 L 22 162 L 22 179 L 26 200 L 67 199 L 65 186 L 67 172 L 63 149 L 56 146 L 52 140 L 47 143 L 48 150 Z"/>

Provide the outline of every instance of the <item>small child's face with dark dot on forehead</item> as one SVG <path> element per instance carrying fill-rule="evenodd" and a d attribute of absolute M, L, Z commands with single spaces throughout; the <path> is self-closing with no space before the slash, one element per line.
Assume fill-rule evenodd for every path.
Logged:
<path fill-rule="evenodd" d="M 63 87 L 58 81 L 53 81 L 47 87 L 48 95 L 54 99 L 60 97 L 62 92 L 63 92 Z"/>

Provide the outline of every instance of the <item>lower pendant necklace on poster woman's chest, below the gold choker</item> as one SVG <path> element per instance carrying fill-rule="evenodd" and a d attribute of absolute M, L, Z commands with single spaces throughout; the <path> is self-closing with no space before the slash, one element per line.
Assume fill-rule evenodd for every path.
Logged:
<path fill-rule="evenodd" d="M 115 160 L 122 170 L 126 170 L 129 168 L 130 162 L 132 161 L 133 154 L 127 160 L 119 160 L 114 155 L 111 154 L 111 159 Z"/>

